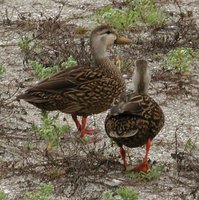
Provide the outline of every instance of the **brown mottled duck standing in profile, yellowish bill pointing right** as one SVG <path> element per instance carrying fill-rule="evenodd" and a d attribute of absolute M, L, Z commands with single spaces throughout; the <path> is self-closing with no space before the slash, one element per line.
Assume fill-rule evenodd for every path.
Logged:
<path fill-rule="evenodd" d="M 130 39 L 119 37 L 112 27 L 98 26 L 90 36 L 94 66 L 78 65 L 62 70 L 29 88 L 17 99 L 24 99 L 42 110 L 71 114 L 81 138 L 94 134 L 95 130 L 86 129 L 87 116 L 106 111 L 125 91 L 122 74 L 106 51 L 113 44 L 129 43 Z M 77 116 L 82 116 L 81 123 Z"/>

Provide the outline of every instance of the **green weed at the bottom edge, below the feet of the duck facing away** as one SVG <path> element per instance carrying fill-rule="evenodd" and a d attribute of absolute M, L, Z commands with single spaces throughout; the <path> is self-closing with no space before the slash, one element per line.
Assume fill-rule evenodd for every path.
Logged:
<path fill-rule="evenodd" d="M 138 192 L 135 192 L 132 188 L 120 187 L 116 190 L 108 190 L 103 192 L 103 200 L 138 200 Z"/>

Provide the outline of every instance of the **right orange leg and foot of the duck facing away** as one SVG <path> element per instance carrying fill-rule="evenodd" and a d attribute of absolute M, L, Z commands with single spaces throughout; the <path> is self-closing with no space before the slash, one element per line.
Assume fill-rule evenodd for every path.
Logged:
<path fill-rule="evenodd" d="M 144 173 L 147 173 L 147 171 L 149 170 L 148 154 L 149 154 L 150 147 L 151 147 L 151 139 L 148 139 L 146 143 L 146 154 L 144 156 L 144 160 L 142 163 L 140 163 L 135 168 L 133 168 L 131 170 L 132 172 L 142 171 Z"/>

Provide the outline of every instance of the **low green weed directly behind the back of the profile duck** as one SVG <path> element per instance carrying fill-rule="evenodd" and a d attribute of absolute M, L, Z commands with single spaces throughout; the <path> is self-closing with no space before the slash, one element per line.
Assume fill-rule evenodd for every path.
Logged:
<path fill-rule="evenodd" d="M 68 57 L 66 62 L 62 63 L 62 66 L 44 67 L 41 63 L 37 61 L 32 61 L 32 67 L 35 70 L 35 75 L 38 78 L 46 78 L 52 74 L 61 71 L 63 68 L 72 67 L 77 64 L 72 56 Z"/>

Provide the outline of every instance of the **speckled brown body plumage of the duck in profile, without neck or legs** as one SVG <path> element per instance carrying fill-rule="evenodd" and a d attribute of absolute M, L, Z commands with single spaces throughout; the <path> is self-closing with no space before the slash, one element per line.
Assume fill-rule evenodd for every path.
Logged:
<path fill-rule="evenodd" d="M 45 79 L 19 97 L 40 109 L 88 116 L 110 108 L 124 88 L 115 66 L 75 66 Z"/>

